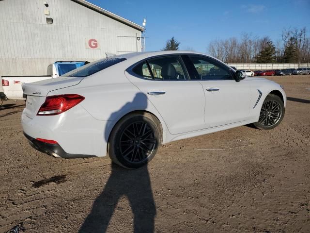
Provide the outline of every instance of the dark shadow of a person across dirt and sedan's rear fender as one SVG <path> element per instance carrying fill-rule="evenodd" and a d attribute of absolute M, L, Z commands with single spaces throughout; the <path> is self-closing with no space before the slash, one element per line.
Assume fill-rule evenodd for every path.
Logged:
<path fill-rule="evenodd" d="M 146 96 L 142 93 L 137 93 L 131 102 L 127 102 L 121 109 L 112 113 L 109 119 L 114 120 L 120 113 L 132 109 L 132 107 L 146 109 Z M 106 130 L 105 137 L 108 140 L 109 130 Z M 134 232 L 154 232 L 156 209 L 148 167 L 143 166 L 138 169 L 127 170 L 112 163 L 111 169 L 111 175 L 103 192 L 93 202 L 92 211 L 86 217 L 79 232 L 105 233 L 109 227 L 109 221 L 115 207 L 123 197 L 126 197 L 130 202 L 134 215 Z M 124 222 L 128 222 L 127 220 L 131 219 L 131 216 L 125 217 Z M 129 231 L 129 228 L 130 226 L 124 226 L 125 231 Z"/>

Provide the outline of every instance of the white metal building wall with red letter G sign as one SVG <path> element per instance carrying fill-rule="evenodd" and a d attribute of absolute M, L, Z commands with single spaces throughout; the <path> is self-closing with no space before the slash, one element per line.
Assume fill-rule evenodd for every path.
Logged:
<path fill-rule="evenodd" d="M 0 0 L 0 76 L 141 51 L 144 28 L 84 0 Z"/>

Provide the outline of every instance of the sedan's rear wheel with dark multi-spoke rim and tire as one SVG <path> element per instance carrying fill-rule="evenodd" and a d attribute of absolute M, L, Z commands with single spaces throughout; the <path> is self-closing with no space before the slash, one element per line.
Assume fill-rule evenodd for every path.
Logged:
<path fill-rule="evenodd" d="M 161 144 L 159 120 L 149 113 L 124 116 L 113 128 L 108 143 L 112 162 L 127 169 L 150 162 Z"/>

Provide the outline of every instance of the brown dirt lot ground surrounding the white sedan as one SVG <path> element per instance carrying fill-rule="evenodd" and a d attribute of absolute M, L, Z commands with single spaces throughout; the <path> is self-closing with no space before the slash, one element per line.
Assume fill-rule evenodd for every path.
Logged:
<path fill-rule="evenodd" d="M 32 149 L 20 125 L 24 102 L 4 102 L 0 232 L 17 224 L 27 233 L 310 232 L 310 75 L 267 78 L 288 97 L 278 128 L 176 141 L 129 171 L 109 157 L 62 160 Z"/>

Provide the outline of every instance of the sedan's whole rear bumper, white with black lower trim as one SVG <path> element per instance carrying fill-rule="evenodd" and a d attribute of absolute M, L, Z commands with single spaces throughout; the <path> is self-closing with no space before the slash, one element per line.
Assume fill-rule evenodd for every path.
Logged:
<path fill-rule="evenodd" d="M 107 155 L 110 121 L 96 120 L 80 105 L 55 116 L 21 115 L 23 132 L 34 148 L 54 157 L 85 158 Z M 36 138 L 56 141 L 46 144 Z M 55 153 L 55 154 L 54 154 Z M 58 156 L 57 156 L 58 155 Z"/>

